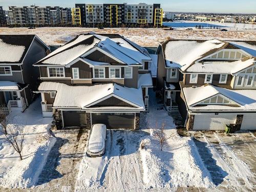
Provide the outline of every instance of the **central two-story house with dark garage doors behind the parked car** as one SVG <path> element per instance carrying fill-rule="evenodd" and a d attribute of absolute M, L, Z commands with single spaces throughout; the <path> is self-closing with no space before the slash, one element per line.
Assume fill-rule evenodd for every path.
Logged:
<path fill-rule="evenodd" d="M 139 129 L 152 77 L 146 49 L 117 34 L 81 34 L 34 64 L 43 116 L 58 127 Z"/>

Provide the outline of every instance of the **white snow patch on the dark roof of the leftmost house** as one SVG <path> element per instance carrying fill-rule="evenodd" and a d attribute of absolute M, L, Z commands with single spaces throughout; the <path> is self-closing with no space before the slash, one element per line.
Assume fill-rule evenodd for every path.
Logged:
<path fill-rule="evenodd" d="M 18 62 L 25 51 L 25 46 L 6 44 L 0 39 L 0 62 Z"/>

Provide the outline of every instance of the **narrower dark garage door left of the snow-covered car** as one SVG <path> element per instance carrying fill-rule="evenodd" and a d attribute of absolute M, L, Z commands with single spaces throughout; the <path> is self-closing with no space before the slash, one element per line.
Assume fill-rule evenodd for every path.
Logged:
<path fill-rule="evenodd" d="M 86 126 L 86 112 L 62 111 L 64 126 Z"/>

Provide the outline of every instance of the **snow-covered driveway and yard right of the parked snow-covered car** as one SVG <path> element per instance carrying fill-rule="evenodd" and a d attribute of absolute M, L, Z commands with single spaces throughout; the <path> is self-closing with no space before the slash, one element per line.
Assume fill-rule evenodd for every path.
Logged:
<path fill-rule="evenodd" d="M 141 130 L 108 130 L 103 157 L 84 157 L 76 191 L 174 190 L 179 186 L 212 187 L 208 170 L 190 137 L 180 137 L 172 117 L 150 90 L 150 112 L 141 116 Z M 173 135 L 160 151 L 150 127 L 166 124 Z M 144 148 L 140 148 L 141 142 Z"/>

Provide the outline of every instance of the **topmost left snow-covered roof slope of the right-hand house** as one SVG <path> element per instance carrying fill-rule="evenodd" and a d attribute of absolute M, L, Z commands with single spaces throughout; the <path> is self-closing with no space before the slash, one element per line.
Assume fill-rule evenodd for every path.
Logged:
<path fill-rule="evenodd" d="M 164 55 L 166 67 L 179 67 L 185 71 L 194 61 L 202 58 L 211 51 L 222 48 L 225 42 L 218 39 L 171 40 L 165 45 Z"/>

